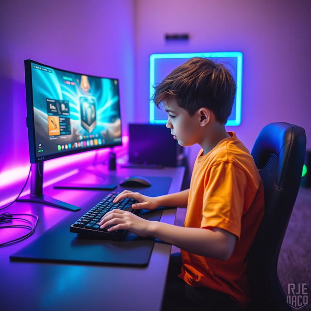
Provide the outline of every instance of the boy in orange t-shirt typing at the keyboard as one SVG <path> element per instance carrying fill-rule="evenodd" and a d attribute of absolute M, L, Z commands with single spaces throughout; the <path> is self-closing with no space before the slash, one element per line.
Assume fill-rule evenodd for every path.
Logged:
<path fill-rule="evenodd" d="M 249 151 L 226 132 L 235 82 L 222 64 L 192 58 L 155 87 L 155 104 L 181 146 L 198 143 L 190 189 L 155 198 L 128 190 L 133 208 L 186 207 L 184 227 L 113 210 L 101 221 L 181 248 L 171 255 L 162 310 L 235 310 L 249 301 L 247 253 L 264 212 L 263 185 Z M 191 308 L 191 309 L 190 309 Z"/>

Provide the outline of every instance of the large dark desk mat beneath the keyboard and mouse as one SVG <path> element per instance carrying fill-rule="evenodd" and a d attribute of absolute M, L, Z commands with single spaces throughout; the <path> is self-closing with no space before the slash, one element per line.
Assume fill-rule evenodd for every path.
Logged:
<path fill-rule="evenodd" d="M 147 178 L 152 182 L 152 187 L 137 189 L 138 192 L 149 196 L 168 193 L 171 177 Z M 152 211 L 141 209 L 137 215 L 147 220 L 159 221 L 162 210 L 161 207 Z M 52 226 L 34 242 L 11 255 L 10 259 L 92 265 L 140 267 L 148 265 L 155 243 L 154 238 L 138 237 L 128 231 L 124 241 L 110 241 L 78 238 L 76 233 L 70 232 L 70 225 L 86 212 L 87 209 L 84 209 L 66 217 L 65 220 Z"/>

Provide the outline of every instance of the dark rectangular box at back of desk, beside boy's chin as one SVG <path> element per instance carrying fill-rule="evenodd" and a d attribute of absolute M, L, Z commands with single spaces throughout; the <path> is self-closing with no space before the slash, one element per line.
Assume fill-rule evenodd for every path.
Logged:
<path fill-rule="evenodd" d="M 183 147 L 165 124 L 129 124 L 130 163 L 176 167 L 183 158 Z"/>

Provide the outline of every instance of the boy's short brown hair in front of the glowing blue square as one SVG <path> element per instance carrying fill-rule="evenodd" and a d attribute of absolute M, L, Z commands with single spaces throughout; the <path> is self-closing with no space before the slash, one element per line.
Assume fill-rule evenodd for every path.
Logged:
<path fill-rule="evenodd" d="M 223 64 L 193 57 L 155 86 L 152 100 L 159 107 L 162 101 L 176 97 L 178 105 L 190 116 L 206 107 L 215 114 L 217 121 L 225 124 L 231 114 L 235 92 L 235 81 Z"/>

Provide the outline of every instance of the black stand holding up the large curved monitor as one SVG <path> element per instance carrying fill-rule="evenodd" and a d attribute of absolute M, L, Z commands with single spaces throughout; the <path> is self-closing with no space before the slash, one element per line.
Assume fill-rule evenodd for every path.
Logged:
<path fill-rule="evenodd" d="M 30 194 L 17 199 L 18 202 L 35 202 L 69 210 L 80 210 L 80 207 L 53 199 L 43 194 L 43 162 L 31 164 Z"/>

